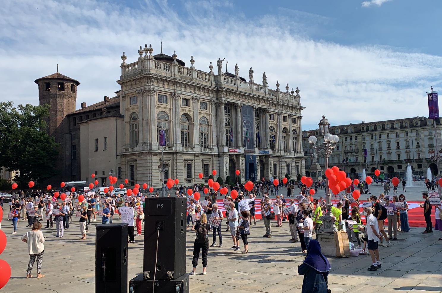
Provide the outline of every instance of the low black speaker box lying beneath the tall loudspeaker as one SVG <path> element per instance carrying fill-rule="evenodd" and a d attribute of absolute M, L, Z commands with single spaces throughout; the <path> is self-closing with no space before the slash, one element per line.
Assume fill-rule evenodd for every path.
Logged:
<path fill-rule="evenodd" d="M 174 280 L 153 280 L 145 281 L 142 275 L 138 275 L 129 282 L 129 293 L 152 292 L 155 285 L 155 292 L 158 293 L 189 293 L 189 274 Z"/>

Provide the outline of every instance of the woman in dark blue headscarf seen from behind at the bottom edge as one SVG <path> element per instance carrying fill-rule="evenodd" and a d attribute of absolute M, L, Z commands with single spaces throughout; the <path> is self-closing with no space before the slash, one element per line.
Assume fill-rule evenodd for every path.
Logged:
<path fill-rule="evenodd" d="M 307 257 L 301 266 L 298 266 L 298 274 L 304 275 L 301 293 L 326 293 L 328 291 L 328 271 L 330 263 L 322 254 L 318 240 L 310 240 L 307 248 Z"/>

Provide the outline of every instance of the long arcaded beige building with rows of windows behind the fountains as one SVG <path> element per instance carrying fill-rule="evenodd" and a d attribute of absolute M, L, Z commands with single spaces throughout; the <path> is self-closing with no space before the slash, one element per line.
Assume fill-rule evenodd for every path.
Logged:
<path fill-rule="evenodd" d="M 331 125 L 330 132 L 339 136 L 339 143 L 330 156 L 329 165 L 338 166 L 352 178 L 362 175 L 364 168 L 367 175 L 374 175 L 374 170 L 379 169 L 390 178 L 404 177 L 408 164 L 413 175 L 426 175 L 428 168 L 433 175 L 438 174 L 436 162 L 430 160 L 430 153 L 435 151 L 436 143 L 433 123 L 433 119 L 418 116 Z M 440 150 L 442 126 L 439 121 L 436 121 L 436 127 Z M 302 132 L 307 171 L 313 158 L 313 149 L 308 141 L 310 135 L 318 137 L 318 143 L 324 141 L 317 129 Z M 318 163 L 324 168 L 324 157 L 318 156 Z"/>

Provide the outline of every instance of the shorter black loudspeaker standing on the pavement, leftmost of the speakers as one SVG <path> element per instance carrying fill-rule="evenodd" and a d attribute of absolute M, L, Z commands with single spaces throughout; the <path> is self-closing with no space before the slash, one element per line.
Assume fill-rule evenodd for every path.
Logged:
<path fill-rule="evenodd" d="M 95 227 L 95 293 L 127 293 L 127 224 Z"/>

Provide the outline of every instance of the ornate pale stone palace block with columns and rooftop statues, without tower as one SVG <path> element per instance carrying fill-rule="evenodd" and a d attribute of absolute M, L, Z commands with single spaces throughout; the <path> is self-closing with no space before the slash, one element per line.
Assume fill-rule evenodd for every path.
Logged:
<path fill-rule="evenodd" d="M 182 183 L 202 183 L 213 169 L 215 177 L 225 181 L 230 176 L 232 182 L 239 169 L 243 183 L 304 173 L 304 107 L 298 89 L 289 91 L 287 85 L 283 91 L 277 83 L 272 90 L 265 72 L 261 80 L 252 68 L 248 80 L 239 76 L 238 66 L 234 74 L 223 72 L 221 59 L 217 72 L 212 63 L 206 72 L 195 68 L 193 57 L 186 67 L 175 52 L 152 52 L 152 46 L 140 47 L 138 60 L 129 64 L 122 56 L 117 82 L 125 134 L 122 147 L 117 145 L 121 162 L 116 160 L 121 178 L 128 178 L 130 185 L 160 186 L 161 164 L 166 180 L 178 178 Z M 198 178 L 200 172 L 203 179 Z"/>

